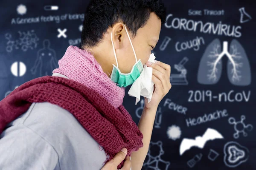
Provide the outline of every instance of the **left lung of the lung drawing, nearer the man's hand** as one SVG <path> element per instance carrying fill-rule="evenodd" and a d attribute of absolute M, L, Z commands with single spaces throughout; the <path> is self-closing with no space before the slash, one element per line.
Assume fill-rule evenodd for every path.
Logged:
<path fill-rule="evenodd" d="M 220 77 L 222 71 L 221 42 L 216 38 L 204 51 L 198 68 L 198 82 L 203 85 L 214 85 Z"/>

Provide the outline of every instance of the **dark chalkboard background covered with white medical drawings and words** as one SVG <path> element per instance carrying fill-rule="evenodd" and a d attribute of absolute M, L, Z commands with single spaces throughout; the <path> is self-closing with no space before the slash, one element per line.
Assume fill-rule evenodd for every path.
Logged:
<path fill-rule="evenodd" d="M 163 2 L 168 21 L 154 54 L 171 65 L 172 88 L 158 107 L 143 169 L 256 169 L 255 2 Z M 52 75 L 67 47 L 79 46 L 88 2 L 0 4 L 3 99 L 24 82 Z M 42 51 L 49 55 L 37 60 Z M 138 123 L 144 101 L 135 105 L 130 87 L 123 105 Z"/>

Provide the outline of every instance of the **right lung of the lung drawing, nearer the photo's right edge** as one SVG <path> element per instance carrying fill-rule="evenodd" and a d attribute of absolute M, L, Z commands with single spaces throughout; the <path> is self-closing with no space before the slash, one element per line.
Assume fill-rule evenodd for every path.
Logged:
<path fill-rule="evenodd" d="M 233 85 L 246 86 L 251 83 L 250 63 L 244 48 L 237 40 L 230 43 L 227 75 Z"/>

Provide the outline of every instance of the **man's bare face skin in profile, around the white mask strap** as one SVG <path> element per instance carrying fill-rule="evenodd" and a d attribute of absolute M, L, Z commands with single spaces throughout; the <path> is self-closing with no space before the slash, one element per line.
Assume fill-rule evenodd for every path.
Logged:
<path fill-rule="evenodd" d="M 131 34 L 129 34 L 137 60 L 140 59 L 143 65 L 148 61 L 151 51 L 159 40 L 160 30 L 161 20 L 156 14 L 151 13 L 147 24 L 143 28 L 138 29 L 134 39 L 132 39 Z M 116 49 L 116 57 L 119 65 L 118 67 L 122 73 L 130 73 L 133 65 L 136 62 L 134 51 L 131 47 L 131 43 L 124 27 L 119 34 L 121 34 L 119 41 L 113 39 L 116 43 L 119 43 L 119 48 Z M 113 61 L 113 64 L 116 65 L 115 59 Z"/>

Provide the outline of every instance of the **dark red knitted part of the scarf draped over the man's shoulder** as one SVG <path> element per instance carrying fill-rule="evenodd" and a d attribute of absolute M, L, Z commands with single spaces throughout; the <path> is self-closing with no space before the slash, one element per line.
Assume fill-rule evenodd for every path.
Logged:
<path fill-rule="evenodd" d="M 96 91 L 81 83 L 53 76 L 25 82 L 0 101 L 0 133 L 33 102 L 50 102 L 72 113 L 105 150 L 104 163 L 123 147 L 127 148 L 128 156 L 143 147 L 143 134 L 123 105 L 114 108 Z"/>

